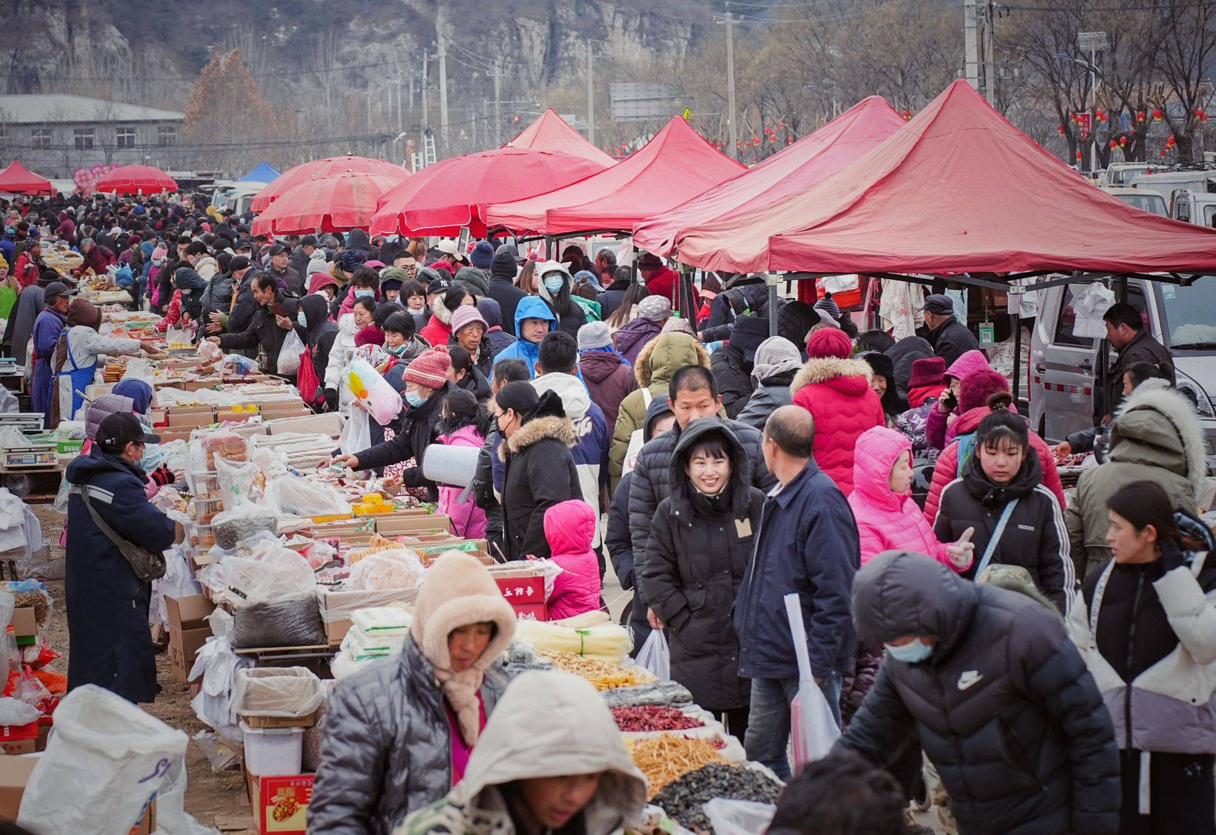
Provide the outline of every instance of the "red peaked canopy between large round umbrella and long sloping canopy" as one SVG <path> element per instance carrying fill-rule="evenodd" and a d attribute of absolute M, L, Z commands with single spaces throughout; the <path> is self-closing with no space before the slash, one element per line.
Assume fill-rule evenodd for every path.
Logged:
<path fill-rule="evenodd" d="M 486 222 L 520 235 L 632 231 L 745 170 L 675 117 L 627 159 L 565 188 L 490 205 Z"/>

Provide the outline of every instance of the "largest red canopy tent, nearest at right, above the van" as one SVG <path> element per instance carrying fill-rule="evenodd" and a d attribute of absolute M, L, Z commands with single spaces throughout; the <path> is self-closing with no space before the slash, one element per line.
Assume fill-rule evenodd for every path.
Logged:
<path fill-rule="evenodd" d="M 748 255 L 759 269 L 1216 271 L 1216 230 L 1135 209 L 1094 188 L 963 80 L 886 142 L 767 209 L 775 210 L 789 231 L 756 242 Z M 708 231 L 697 243 L 721 246 Z"/>

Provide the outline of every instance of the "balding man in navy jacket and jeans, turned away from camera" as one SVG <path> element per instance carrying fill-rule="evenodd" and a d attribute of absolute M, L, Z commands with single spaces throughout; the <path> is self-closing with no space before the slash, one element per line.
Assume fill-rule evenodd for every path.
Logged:
<path fill-rule="evenodd" d="M 748 760 L 789 779 L 789 703 L 798 661 L 784 597 L 801 600 L 811 672 L 840 722 L 840 679 L 852 659 L 850 592 L 861 563 L 857 524 L 844 493 L 815 463 L 815 419 L 782 406 L 764 428 L 764 462 L 777 478 L 754 532 L 751 563 L 734 603 L 739 675 L 751 679 Z"/>

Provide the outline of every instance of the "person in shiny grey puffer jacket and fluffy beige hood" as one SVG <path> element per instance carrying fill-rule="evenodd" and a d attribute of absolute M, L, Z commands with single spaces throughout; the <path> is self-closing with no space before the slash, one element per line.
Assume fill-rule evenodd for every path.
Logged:
<path fill-rule="evenodd" d="M 497 659 L 514 632 L 516 613 L 486 568 L 467 553 L 439 557 L 401 654 L 367 665 L 330 695 L 309 830 L 389 835 L 461 784 L 502 698 Z M 486 754 L 499 750 L 489 740 Z"/>

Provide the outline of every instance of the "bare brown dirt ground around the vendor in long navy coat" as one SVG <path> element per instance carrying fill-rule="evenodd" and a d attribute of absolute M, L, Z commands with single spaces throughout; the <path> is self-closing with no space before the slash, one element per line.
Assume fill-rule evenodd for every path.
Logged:
<path fill-rule="evenodd" d="M 64 517 L 56 513 L 50 504 L 34 504 L 33 508 L 43 523 L 43 536 L 51 543 L 52 554 L 62 557 L 60 529 Z M 46 643 L 56 651 L 63 653 L 63 658 L 51 666 L 67 673 L 68 620 L 63 602 L 63 581 L 50 581 L 46 587 L 55 599 L 55 613 L 50 626 L 45 630 Z M 141 707 L 174 728 L 184 730 L 187 737 L 193 738 L 199 730 L 207 729 L 190 707 L 188 688 L 173 677 L 167 653 L 161 651 L 157 655 L 156 666 L 162 690 L 153 704 Z M 212 772 L 207 757 L 191 739 L 186 749 L 186 811 L 199 823 L 215 826 L 224 833 L 255 834 L 253 812 L 246 797 L 244 780 L 240 771 Z"/>

